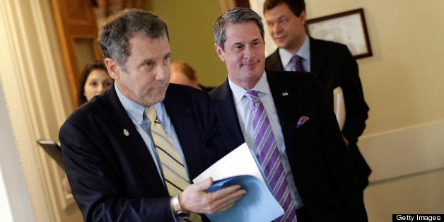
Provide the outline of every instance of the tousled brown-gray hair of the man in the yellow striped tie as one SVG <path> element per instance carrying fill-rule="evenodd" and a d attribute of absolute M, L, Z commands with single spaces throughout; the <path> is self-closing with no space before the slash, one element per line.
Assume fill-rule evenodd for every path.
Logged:
<path fill-rule="evenodd" d="M 135 8 L 125 9 L 107 18 L 100 28 L 98 43 L 103 57 L 115 59 L 124 69 L 130 51 L 128 40 L 139 31 L 146 37 L 166 35 L 170 40 L 166 23 L 156 14 Z"/>

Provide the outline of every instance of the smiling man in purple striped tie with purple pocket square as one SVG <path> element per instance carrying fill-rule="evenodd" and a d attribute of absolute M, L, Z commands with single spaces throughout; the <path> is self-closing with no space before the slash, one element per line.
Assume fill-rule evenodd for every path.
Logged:
<path fill-rule="evenodd" d="M 286 211 L 281 219 L 293 221 L 288 215 L 296 211 L 300 222 L 367 221 L 348 151 L 315 76 L 264 70 L 264 26 L 255 11 L 226 11 L 213 32 L 216 52 L 228 70 L 227 80 L 210 92 L 217 115 L 232 148 L 245 141 L 258 155 L 262 144 L 252 111 L 263 104 L 284 170 L 287 185 L 282 187 L 291 194 L 290 206 L 281 203 Z M 251 103 L 252 92 L 258 93 L 259 103 Z"/>

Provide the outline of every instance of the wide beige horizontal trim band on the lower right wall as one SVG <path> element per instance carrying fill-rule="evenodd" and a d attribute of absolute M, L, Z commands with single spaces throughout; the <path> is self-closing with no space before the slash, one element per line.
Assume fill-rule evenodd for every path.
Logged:
<path fill-rule="evenodd" d="M 444 121 L 362 136 L 358 146 L 373 172 L 370 182 L 444 168 Z"/>

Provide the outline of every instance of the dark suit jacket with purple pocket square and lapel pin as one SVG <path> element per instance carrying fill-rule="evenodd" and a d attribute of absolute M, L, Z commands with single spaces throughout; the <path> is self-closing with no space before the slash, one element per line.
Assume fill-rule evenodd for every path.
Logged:
<path fill-rule="evenodd" d="M 313 221 L 367 221 L 362 193 L 336 117 L 312 74 L 266 71 L 286 153 L 305 209 Z M 288 95 L 283 95 L 288 93 Z M 231 148 L 245 140 L 228 80 L 210 92 Z M 296 127 L 298 118 L 310 119 Z"/>

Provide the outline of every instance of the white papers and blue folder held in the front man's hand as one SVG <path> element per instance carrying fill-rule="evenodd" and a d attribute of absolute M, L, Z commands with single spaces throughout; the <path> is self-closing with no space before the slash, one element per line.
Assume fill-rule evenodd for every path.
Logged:
<path fill-rule="evenodd" d="M 247 194 L 230 209 L 206 214 L 211 221 L 273 221 L 284 214 L 247 144 L 242 144 L 218 160 L 193 182 L 201 182 L 208 177 L 216 181 L 207 189 L 208 192 L 230 185 L 240 185 L 247 190 Z"/>

